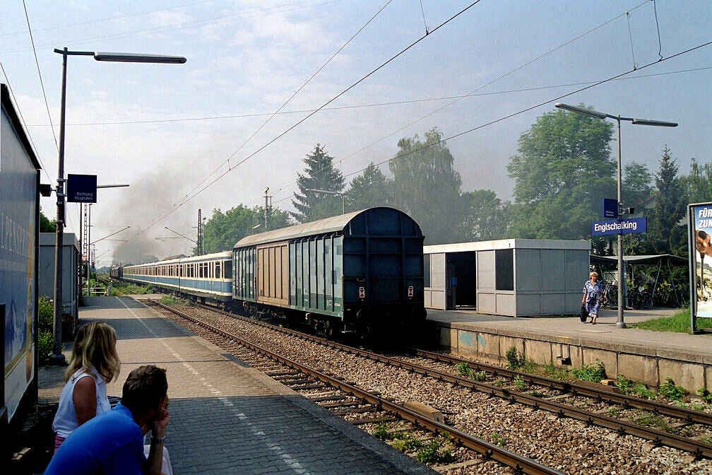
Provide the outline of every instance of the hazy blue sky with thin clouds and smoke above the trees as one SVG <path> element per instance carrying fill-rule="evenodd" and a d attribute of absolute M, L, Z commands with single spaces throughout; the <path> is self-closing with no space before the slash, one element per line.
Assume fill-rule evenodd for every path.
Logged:
<path fill-rule="evenodd" d="M 317 143 L 351 180 L 370 162 L 388 174 L 399 139 L 437 127 L 464 192 L 511 199 L 518 139 L 557 102 L 678 122 L 623 122 L 622 163 L 655 172 L 667 145 L 687 174 L 691 157 L 712 160 L 710 25 L 712 2 L 698 0 L 5 0 L 0 82 L 54 186 L 54 48 L 187 58 L 68 57 L 65 172 L 130 185 L 99 189 L 91 207 L 105 266 L 190 254 L 179 234 L 196 239 L 199 209 L 255 207 L 266 188 L 293 210 Z M 54 196 L 41 207 L 56 216 Z M 78 204 L 67 214 L 79 234 Z"/>

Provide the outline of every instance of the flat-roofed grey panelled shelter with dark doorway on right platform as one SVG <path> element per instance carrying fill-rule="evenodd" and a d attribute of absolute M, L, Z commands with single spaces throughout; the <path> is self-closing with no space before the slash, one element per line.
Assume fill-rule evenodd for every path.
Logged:
<path fill-rule="evenodd" d="M 424 246 L 425 306 L 506 316 L 579 313 L 590 241 L 501 239 Z"/>

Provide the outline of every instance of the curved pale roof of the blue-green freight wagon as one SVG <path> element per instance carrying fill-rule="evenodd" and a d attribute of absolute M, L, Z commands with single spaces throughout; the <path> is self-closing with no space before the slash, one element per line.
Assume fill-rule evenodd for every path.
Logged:
<path fill-rule="evenodd" d="M 274 229 L 273 231 L 267 231 L 260 234 L 251 234 L 250 236 L 245 236 L 244 238 L 237 241 L 237 244 L 235 244 L 234 249 L 248 246 L 258 246 L 259 244 L 266 244 L 270 242 L 288 241 L 290 239 L 299 239 L 302 237 L 315 236 L 318 234 L 329 234 L 343 231 L 347 224 L 349 224 L 356 216 L 359 216 L 362 213 L 376 214 L 379 212 L 397 212 L 413 221 L 410 216 L 408 216 L 402 211 L 399 211 L 398 209 L 388 207 L 367 208 L 361 209 L 360 211 L 340 214 L 339 216 L 331 216 L 330 218 L 326 219 L 319 219 L 318 221 L 311 221 L 305 224 L 297 224 L 296 226 L 288 226 L 282 229 Z M 413 221 L 413 223 L 415 224 L 415 221 Z M 419 227 L 418 232 L 420 232 Z"/>

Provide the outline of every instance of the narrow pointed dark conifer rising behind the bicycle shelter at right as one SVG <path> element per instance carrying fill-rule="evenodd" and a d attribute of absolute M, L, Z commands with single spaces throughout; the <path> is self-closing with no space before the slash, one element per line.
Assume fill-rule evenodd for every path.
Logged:
<path fill-rule="evenodd" d="M 678 165 L 665 145 L 655 173 L 655 212 L 648 224 L 648 238 L 656 253 L 680 253 L 686 246 L 684 226 L 679 221 L 685 216 L 686 196 L 677 176 Z"/>

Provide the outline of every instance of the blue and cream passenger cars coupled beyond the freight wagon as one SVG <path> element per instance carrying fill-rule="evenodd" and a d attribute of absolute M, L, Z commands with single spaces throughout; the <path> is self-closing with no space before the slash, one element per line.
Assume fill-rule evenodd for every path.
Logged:
<path fill-rule="evenodd" d="M 227 307 L 232 301 L 230 251 L 124 266 L 122 273 L 125 281 L 151 284 L 201 303 Z"/>

